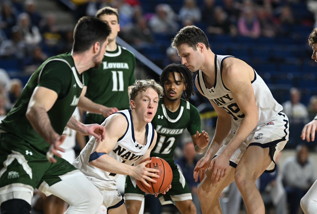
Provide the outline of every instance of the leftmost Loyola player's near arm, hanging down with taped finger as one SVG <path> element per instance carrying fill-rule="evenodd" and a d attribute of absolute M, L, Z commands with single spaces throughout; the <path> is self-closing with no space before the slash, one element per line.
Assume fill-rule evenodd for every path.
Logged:
<path fill-rule="evenodd" d="M 61 136 L 55 132 L 47 112 L 52 108 L 57 100 L 57 93 L 54 90 L 45 87 L 36 87 L 29 101 L 26 111 L 26 118 L 43 139 L 51 146 L 49 152 L 61 157 L 57 150 L 64 151 L 60 148 L 66 136 Z M 56 163 L 53 155 L 49 158 L 50 162 Z"/>

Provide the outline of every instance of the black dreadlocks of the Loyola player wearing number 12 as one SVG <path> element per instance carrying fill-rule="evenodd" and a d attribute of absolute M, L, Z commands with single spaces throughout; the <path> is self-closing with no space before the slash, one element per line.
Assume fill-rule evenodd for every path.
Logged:
<path fill-rule="evenodd" d="M 186 89 L 184 92 L 184 98 L 185 100 L 189 101 L 191 99 L 191 95 L 194 95 L 194 83 L 193 83 L 193 77 L 192 72 L 188 70 L 184 65 L 181 64 L 169 64 L 167 65 L 163 71 L 161 76 L 159 77 L 159 84 L 164 89 L 164 83 L 168 79 L 169 73 L 173 74 L 174 80 L 175 79 L 175 73 L 179 73 L 179 76 L 181 77 L 182 81 L 186 85 Z"/>

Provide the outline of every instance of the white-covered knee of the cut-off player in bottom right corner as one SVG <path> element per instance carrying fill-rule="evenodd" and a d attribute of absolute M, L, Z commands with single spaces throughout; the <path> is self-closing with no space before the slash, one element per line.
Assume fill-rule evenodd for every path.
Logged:
<path fill-rule="evenodd" d="M 317 180 L 301 199 L 301 208 L 305 214 L 317 213 Z"/>

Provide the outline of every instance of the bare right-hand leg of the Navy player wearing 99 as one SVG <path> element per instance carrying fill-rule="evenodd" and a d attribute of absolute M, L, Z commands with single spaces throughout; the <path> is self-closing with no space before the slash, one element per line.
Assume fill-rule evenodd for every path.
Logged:
<path fill-rule="evenodd" d="M 269 148 L 249 146 L 236 167 L 236 185 L 241 192 L 248 213 L 264 214 L 265 212 L 262 197 L 255 182 L 271 162 Z"/>

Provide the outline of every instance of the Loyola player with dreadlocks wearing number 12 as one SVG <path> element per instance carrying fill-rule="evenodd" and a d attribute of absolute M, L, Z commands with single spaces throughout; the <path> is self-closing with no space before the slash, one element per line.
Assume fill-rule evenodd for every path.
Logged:
<path fill-rule="evenodd" d="M 164 88 L 164 97 L 159 101 L 158 111 L 152 120 L 159 136 L 150 156 L 161 157 L 170 164 L 173 188 L 160 195 L 159 200 L 162 205 L 175 204 L 182 214 L 197 213 L 188 184 L 173 159 L 178 139 L 186 128 L 197 153 L 202 154 L 209 143 L 207 132 L 199 134 L 201 121 L 198 110 L 188 102 L 194 93 L 192 74 L 181 64 L 170 64 L 163 69 L 160 85 Z M 183 92 L 185 100 L 181 98 Z M 125 199 L 129 214 L 139 213 L 144 197 L 145 193 L 136 186 L 135 180 L 127 176 Z"/>

